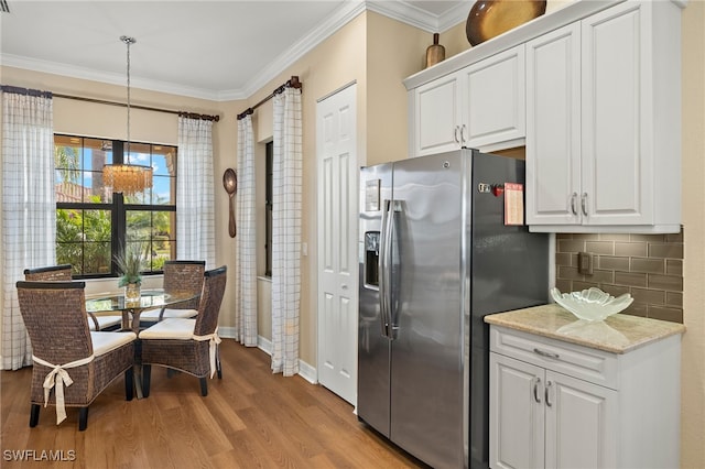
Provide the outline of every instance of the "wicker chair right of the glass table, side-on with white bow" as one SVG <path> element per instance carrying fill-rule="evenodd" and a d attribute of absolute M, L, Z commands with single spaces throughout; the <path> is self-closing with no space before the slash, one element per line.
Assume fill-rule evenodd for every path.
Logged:
<path fill-rule="evenodd" d="M 205 273 L 198 315 L 195 319 L 167 318 L 140 332 L 142 346 L 142 392 L 150 394 L 151 366 L 159 364 L 193 374 L 200 381 L 200 394 L 208 395 L 206 377 L 217 371 L 223 378 L 218 351 L 218 314 L 225 293 L 226 266 Z"/>

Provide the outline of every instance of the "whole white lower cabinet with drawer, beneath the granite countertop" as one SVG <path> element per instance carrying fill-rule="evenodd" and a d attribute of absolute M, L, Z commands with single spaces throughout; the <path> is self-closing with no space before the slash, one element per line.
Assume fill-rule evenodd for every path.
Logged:
<path fill-rule="evenodd" d="M 610 353 L 490 327 L 490 467 L 679 467 L 680 336 Z"/>

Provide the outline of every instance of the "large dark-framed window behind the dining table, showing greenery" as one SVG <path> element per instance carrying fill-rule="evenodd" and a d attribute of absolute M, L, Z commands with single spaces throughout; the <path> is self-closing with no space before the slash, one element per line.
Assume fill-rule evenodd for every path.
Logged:
<path fill-rule="evenodd" d="M 176 257 L 176 146 L 130 142 L 130 162 L 153 168 L 153 186 L 133 196 L 102 184 L 102 167 L 122 163 L 119 140 L 54 135 L 56 260 L 76 277 L 112 276 L 129 243 L 144 253 L 143 272 Z"/>

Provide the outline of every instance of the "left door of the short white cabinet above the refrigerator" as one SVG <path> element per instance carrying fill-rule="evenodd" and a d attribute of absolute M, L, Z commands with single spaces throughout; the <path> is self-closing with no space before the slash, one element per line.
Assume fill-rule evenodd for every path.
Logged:
<path fill-rule="evenodd" d="M 460 148 L 458 75 L 451 74 L 413 91 L 413 155 Z"/>

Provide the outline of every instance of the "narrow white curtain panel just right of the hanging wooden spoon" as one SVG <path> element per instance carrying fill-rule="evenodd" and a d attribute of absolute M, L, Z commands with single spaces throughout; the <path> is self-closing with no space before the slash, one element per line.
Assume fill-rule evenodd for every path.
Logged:
<path fill-rule="evenodd" d="M 238 121 L 235 338 L 257 347 L 257 211 L 252 116 Z"/>

